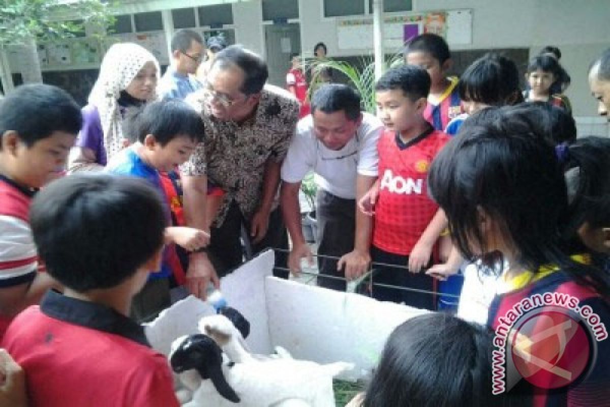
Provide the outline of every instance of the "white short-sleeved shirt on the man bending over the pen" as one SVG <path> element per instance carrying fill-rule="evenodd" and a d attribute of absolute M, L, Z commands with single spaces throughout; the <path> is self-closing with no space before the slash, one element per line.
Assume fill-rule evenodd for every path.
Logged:
<path fill-rule="evenodd" d="M 302 118 L 282 165 L 282 181 L 300 182 L 314 171 L 321 189 L 339 198 L 356 198 L 356 175 L 377 176 L 377 142 L 383 131 L 378 118 L 365 112 L 362 116 L 354 137 L 337 151 L 315 137 L 312 115 Z"/>

